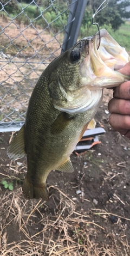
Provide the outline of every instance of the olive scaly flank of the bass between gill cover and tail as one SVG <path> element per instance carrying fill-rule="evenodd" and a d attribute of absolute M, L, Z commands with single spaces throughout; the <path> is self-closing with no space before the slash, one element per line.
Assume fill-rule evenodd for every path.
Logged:
<path fill-rule="evenodd" d="M 29 102 L 27 122 L 25 122 L 25 130 L 27 131 L 25 133 L 25 148 L 27 148 L 28 155 L 28 174 L 30 176 L 31 173 L 31 182 L 34 180 L 35 184 L 40 184 L 42 180 L 41 175 L 37 175 L 36 170 L 39 170 L 40 173 L 42 173 L 42 170 L 45 170 L 48 175 L 48 168 L 50 170 L 55 169 L 64 161 L 64 157 L 68 159 L 76 143 L 79 141 L 83 127 L 87 122 L 89 123 L 92 115 L 94 117 L 96 112 L 96 108 L 93 108 L 87 113 L 71 115 L 70 118 L 74 117 L 74 119 L 72 118 L 68 126 L 62 132 L 54 134 L 51 132 L 51 126 L 61 112 L 55 109 L 50 102 L 47 87 L 46 79 L 44 81 L 40 80 L 37 83 Z M 82 124 L 82 126 L 79 126 L 79 124 Z M 76 131 L 75 125 L 79 128 Z M 74 141 L 74 145 L 72 141 Z M 61 160 L 62 158 L 63 160 Z M 45 173 L 43 177 L 46 179 Z"/>

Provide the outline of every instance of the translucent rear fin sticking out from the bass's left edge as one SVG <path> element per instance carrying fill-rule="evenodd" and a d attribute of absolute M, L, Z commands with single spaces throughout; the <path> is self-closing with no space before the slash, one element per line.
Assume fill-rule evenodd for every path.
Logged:
<path fill-rule="evenodd" d="M 12 160 L 20 159 L 25 155 L 24 130 L 25 125 L 19 130 L 7 149 L 7 154 Z"/>

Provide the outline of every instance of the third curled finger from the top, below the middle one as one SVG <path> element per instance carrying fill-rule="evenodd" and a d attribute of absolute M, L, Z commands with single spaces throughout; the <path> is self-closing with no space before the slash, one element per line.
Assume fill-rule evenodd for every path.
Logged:
<path fill-rule="evenodd" d="M 111 114 L 109 117 L 109 124 L 117 131 L 125 135 L 130 130 L 130 116 L 121 114 Z"/>

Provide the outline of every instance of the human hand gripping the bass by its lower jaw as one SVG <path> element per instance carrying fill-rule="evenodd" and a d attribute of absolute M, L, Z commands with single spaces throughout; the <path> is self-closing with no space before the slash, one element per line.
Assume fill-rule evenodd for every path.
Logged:
<path fill-rule="evenodd" d="M 119 71 L 124 75 L 130 75 L 130 62 Z M 111 113 L 109 124 L 130 140 L 130 81 L 114 88 L 108 110 Z"/>

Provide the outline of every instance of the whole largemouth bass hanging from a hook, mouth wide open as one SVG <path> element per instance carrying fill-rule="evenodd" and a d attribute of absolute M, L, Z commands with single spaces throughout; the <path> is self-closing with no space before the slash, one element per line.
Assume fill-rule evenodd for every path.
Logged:
<path fill-rule="evenodd" d="M 105 29 L 88 36 L 51 62 L 29 101 L 25 124 L 8 148 L 12 160 L 27 154 L 28 171 L 22 186 L 27 199 L 48 200 L 46 179 L 51 170 L 73 172 L 70 161 L 94 115 L 102 89 L 130 79 L 116 71 L 130 58 Z"/>

